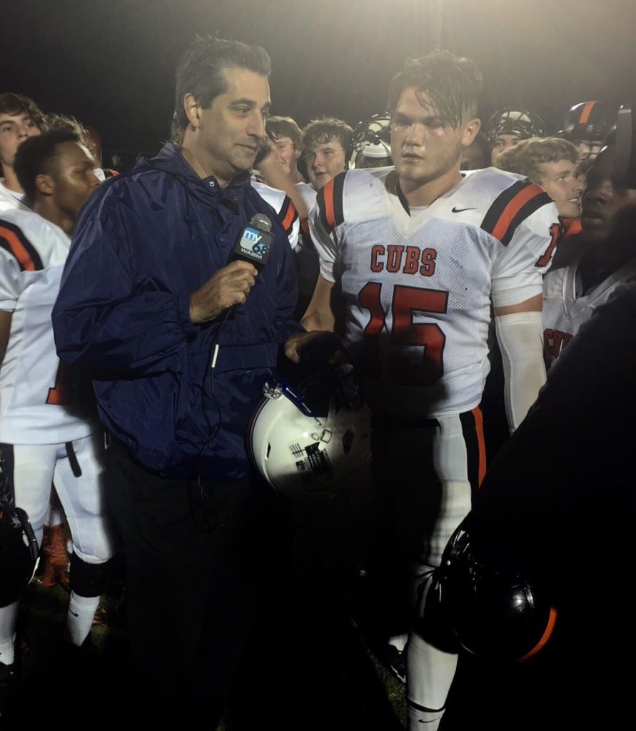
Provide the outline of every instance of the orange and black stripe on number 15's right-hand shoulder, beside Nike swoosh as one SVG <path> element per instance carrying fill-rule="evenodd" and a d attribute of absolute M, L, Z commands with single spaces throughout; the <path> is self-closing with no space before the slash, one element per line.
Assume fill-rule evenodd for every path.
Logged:
<path fill-rule="evenodd" d="M 529 180 L 517 181 L 501 192 L 482 221 L 482 229 L 508 246 L 519 224 L 550 203 L 550 196 Z"/>

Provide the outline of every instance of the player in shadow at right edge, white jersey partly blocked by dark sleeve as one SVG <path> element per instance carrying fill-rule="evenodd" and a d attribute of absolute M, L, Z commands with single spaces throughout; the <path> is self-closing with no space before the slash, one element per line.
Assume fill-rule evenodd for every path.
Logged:
<path fill-rule="evenodd" d="M 636 190 L 612 182 L 615 154 L 610 138 L 588 170 L 581 226 L 593 245 L 579 262 L 548 272 L 543 281 L 543 344 L 549 366 L 614 289 L 636 276 L 631 227 L 612 229 L 615 217 L 636 205 Z"/>

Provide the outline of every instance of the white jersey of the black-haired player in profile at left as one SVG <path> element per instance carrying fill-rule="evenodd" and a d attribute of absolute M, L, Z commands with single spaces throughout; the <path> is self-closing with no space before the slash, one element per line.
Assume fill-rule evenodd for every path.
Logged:
<path fill-rule="evenodd" d="M 0 442 L 81 439 L 95 423 L 80 414 L 71 369 L 59 360 L 51 312 L 70 239 L 31 211 L 0 215 L 0 309 L 12 312 L 0 365 Z"/>

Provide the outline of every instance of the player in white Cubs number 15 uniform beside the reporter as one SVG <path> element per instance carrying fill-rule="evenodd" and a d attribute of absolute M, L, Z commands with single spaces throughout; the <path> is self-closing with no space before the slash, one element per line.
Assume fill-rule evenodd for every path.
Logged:
<path fill-rule="evenodd" d="M 420 617 L 444 545 L 485 471 L 478 406 L 491 300 L 511 429 L 545 381 L 542 274 L 558 213 L 520 175 L 461 175 L 462 148 L 480 129 L 481 86 L 472 61 L 447 51 L 409 61 L 395 77 L 395 167 L 349 170 L 320 190 L 310 216 L 320 276 L 302 320 L 309 332 L 286 347 L 298 361 L 311 331 L 334 329 L 339 290 L 344 340 L 374 412 L 376 485 Z M 409 637 L 411 729 L 439 726 L 455 673 L 458 645 L 436 624 L 425 617 Z"/>

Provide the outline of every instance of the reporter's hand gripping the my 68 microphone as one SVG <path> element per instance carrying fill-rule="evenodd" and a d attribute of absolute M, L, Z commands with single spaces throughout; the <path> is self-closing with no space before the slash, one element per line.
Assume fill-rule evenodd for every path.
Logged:
<path fill-rule="evenodd" d="M 258 272 L 249 262 L 231 262 L 219 269 L 205 284 L 190 295 L 190 319 L 205 322 L 214 319 L 232 305 L 242 305 L 256 284 Z"/>

